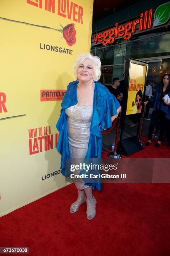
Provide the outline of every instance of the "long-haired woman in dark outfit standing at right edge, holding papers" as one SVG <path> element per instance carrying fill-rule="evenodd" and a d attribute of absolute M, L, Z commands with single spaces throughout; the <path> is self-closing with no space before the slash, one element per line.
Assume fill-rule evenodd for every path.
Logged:
<path fill-rule="evenodd" d="M 164 100 L 163 97 L 167 95 L 170 97 L 170 74 L 165 74 L 162 78 L 162 83 L 157 87 L 155 95 L 151 100 L 153 102 L 153 113 L 150 120 L 149 132 L 148 132 L 148 142 L 145 146 L 149 146 L 151 143 L 152 134 L 154 131 L 155 124 L 160 121 L 160 135 L 159 140 L 155 147 L 159 148 L 165 131 L 168 131 L 170 126 L 170 103 L 168 100 Z M 145 102 L 145 105 L 148 101 Z M 168 132 L 168 136 L 170 136 Z M 168 138 L 169 140 L 170 138 Z"/>

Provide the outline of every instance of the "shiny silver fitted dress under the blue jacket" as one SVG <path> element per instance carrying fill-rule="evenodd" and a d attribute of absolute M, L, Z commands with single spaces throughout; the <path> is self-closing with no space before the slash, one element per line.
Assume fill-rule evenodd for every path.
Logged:
<path fill-rule="evenodd" d="M 90 124 L 93 106 L 71 106 L 65 110 L 71 159 L 84 159 L 90 138 Z M 88 186 L 76 183 L 78 189 Z"/>

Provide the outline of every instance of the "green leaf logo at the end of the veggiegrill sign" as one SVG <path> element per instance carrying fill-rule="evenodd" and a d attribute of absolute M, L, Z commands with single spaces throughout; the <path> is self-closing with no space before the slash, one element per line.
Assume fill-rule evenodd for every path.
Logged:
<path fill-rule="evenodd" d="M 166 23 L 170 18 L 170 2 L 158 6 L 155 10 L 153 27 Z"/>

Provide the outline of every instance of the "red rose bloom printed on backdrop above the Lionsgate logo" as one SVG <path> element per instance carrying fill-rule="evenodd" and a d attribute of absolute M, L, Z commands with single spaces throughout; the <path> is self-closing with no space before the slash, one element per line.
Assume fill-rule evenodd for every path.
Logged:
<path fill-rule="evenodd" d="M 72 46 L 76 42 L 76 30 L 74 24 L 68 24 L 63 28 L 63 37 L 69 46 Z"/>

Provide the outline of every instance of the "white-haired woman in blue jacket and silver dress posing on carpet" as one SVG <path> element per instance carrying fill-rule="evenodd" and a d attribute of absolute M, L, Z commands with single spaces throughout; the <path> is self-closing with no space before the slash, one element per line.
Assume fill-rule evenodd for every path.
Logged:
<path fill-rule="evenodd" d="M 62 155 L 62 174 L 67 176 L 65 159 L 101 158 L 102 131 L 110 128 L 120 111 L 120 104 L 100 82 L 101 62 L 97 56 L 81 54 L 74 64 L 77 81 L 68 84 L 62 101 L 61 115 L 56 128 L 60 132 L 57 150 Z M 95 217 L 96 199 L 92 195 L 95 187 L 102 184 L 75 183 L 78 198 L 72 203 L 70 212 L 79 210 L 87 203 L 87 219 Z M 87 199 L 86 199 L 86 197 Z"/>

